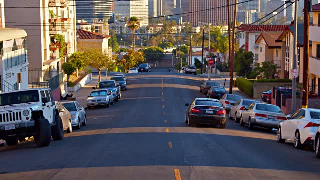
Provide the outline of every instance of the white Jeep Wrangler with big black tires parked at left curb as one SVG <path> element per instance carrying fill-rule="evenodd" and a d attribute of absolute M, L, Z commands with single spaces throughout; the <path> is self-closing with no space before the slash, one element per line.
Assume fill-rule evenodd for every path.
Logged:
<path fill-rule="evenodd" d="M 38 147 L 62 140 L 63 124 L 51 89 L 37 88 L 0 93 L 0 139 L 16 145 L 34 136 Z"/>

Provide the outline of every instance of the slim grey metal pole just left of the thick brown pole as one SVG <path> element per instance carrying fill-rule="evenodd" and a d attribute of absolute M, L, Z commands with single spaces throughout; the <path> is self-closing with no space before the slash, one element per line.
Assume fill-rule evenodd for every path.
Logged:
<path fill-rule="evenodd" d="M 294 2 L 294 40 L 293 40 L 293 69 L 296 69 L 296 61 L 297 61 L 297 29 L 298 29 L 298 1 L 295 0 Z M 292 114 L 295 112 L 296 109 L 296 78 L 292 76 Z"/>

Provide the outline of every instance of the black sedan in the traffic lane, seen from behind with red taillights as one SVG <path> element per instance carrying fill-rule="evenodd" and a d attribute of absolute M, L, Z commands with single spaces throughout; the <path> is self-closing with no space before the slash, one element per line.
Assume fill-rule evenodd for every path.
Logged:
<path fill-rule="evenodd" d="M 189 126 L 196 124 L 213 124 L 225 128 L 226 112 L 216 99 L 195 98 L 191 104 L 185 104 L 185 123 Z"/>

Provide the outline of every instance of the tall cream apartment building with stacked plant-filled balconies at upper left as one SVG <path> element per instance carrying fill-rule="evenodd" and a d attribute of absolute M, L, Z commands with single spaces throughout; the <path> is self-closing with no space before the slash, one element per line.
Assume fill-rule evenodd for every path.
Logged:
<path fill-rule="evenodd" d="M 10 22 L 7 27 L 23 28 L 28 34 L 29 81 L 48 81 L 59 74 L 62 63 L 76 51 L 75 1 L 28 0 L 28 3 L 21 3 L 19 0 L 5 0 L 5 5 L 24 7 L 8 8 L 5 16 Z M 31 8 L 34 6 L 43 8 Z M 62 35 L 64 42 L 59 42 L 56 34 Z M 60 50 L 63 43 L 66 45 L 64 51 Z M 48 73 L 30 78 L 30 69 Z"/>

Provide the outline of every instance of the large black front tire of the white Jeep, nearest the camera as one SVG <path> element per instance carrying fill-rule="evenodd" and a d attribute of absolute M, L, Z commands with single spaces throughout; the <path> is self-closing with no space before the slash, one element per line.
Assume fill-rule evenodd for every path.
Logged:
<path fill-rule="evenodd" d="M 38 147 L 46 147 L 50 144 L 51 127 L 47 119 L 36 119 L 34 141 Z"/>

